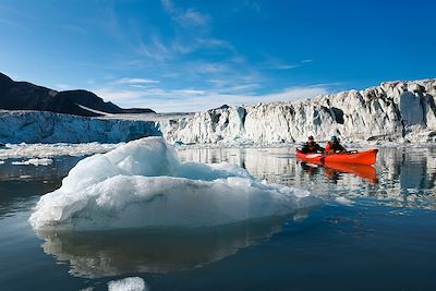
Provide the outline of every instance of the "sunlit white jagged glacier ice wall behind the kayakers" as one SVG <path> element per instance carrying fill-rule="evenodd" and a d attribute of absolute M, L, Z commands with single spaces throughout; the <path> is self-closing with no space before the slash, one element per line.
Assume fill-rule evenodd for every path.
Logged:
<path fill-rule="evenodd" d="M 436 80 L 386 82 L 288 102 L 233 106 L 160 121 L 169 142 L 292 143 L 308 135 L 346 141 L 433 141 Z"/>

